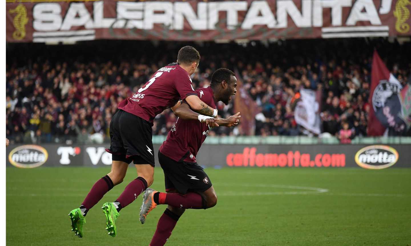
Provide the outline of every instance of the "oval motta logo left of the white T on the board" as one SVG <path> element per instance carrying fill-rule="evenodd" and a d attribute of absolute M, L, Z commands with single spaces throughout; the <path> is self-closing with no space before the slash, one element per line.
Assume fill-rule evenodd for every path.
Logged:
<path fill-rule="evenodd" d="M 45 148 L 38 145 L 22 145 L 9 153 L 9 161 L 19 168 L 35 168 L 43 165 L 48 158 Z"/>

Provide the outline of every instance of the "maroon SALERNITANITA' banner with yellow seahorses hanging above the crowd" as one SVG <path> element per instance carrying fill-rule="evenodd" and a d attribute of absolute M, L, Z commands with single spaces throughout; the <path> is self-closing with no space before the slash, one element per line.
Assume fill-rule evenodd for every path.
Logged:
<path fill-rule="evenodd" d="M 14 1 L 7 42 L 409 36 L 409 0 Z"/>

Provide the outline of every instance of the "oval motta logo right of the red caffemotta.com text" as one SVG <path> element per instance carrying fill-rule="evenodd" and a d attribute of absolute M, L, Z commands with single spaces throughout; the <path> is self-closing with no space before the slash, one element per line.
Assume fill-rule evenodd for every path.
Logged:
<path fill-rule="evenodd" d="M 365 169 L 384 169 L 398 161 L 398 152 L 386 145 L 372 145 L 358 150 L 355 160 Z"/>

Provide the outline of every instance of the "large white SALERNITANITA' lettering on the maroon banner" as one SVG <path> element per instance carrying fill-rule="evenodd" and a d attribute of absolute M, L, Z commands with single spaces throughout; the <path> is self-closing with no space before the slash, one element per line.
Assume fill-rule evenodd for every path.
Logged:
<path fill-rule="evenodd" d="M 72 27 L 94 28 L 136 28 L 151 30 L 155 24 L 163 24 L 170 30 L 215 30 L 220 21 L 220 12 L 226 13 L 227 29 L 249 30 L 256 25 L 268 28 L 287 28 L 291 21 L 297 27 L 323 27 L 323 9 L 330 9 L 331 26 L 352 26 L 358 21 L 369 21 L 372 25 L 381 25 L 373 0 L 301 0 L 297 7 L 293 0 L 198 2 L 196 11 L 189 2 L 145 1 L 116 2 L 116 16 L 104 17 L 104 2 L 92 4 L 92 13 L 84 2 L 72 2 L 66 13 L 62 13 L 60 4 L 42 2 L 33 7 L 33 27 L 36 32 L 71 31 Z M 390 0 L 383 0 L 380 12 L 390 10 Z M 270 4 L 269 4 L 270 3 Z M 343 9 L 349 8 L 346 22 Z M 275 11 L 275 14 L 274 14 Z M 244 19 L 239 12 L 246 12 Z M 64 16 L 64 17 L 63 17 Z M 185 25 L 187 20 L 188 27 Z M 278 21 L 278 22 L 277 22 Z M 94 34 L 93 34 L 94 35 Z M 42 33 L 42 36 L 46 36 Z M 91 36 L 94 38 L 94 36 Z"/>

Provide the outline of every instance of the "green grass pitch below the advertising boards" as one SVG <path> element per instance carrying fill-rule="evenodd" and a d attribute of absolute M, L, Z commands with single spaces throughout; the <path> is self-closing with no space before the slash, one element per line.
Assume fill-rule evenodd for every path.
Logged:
<path fill-rule="evenodd" d="M 411 169 L 205 169 L 218 196 L 209 210 L 186 210 L 168 246 L 407 246 L 411 245 Z M 84 237 L 67 214 L 107 168 L 7 168 L 7 245 L 148 246 L 159 205 L 139 222 L 142 196 L 120 212 L 109 237 L 102 209 L 129 181 L 88 212 Z M 164 191 L 156 168 L 152 188 Z"/>

